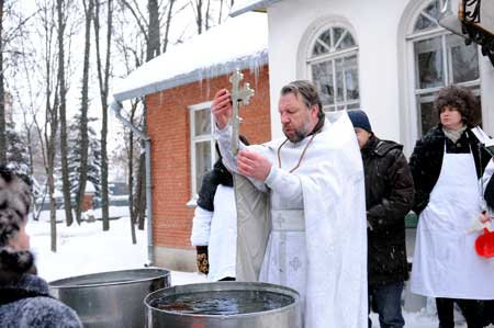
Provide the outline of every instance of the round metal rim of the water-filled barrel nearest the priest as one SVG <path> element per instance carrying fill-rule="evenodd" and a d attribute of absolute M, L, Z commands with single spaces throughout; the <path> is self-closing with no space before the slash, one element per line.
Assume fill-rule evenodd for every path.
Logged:
<path fill-rule="evenodd" d="M 284 291 L 288 292 L 289 296 L 293 297 L 293 303 L 283 306 L 283 307 L 279 307 L 279 308 L 273 308 L 273 309 L 268 309 L 268 310 L 262 310 L 262 312 L 255 312 L 255 313 L 248 313 L 248 314 L 237 314 L 237 315 L 198 315 L 198 314 L 186 314 L 186 313 L 179 313 L 179 312 L 172 312 L 172 310 L 166 310 L 166 309 L 161 309 L 161 308 L 157 308 L 154 306 L 150 306 L 149 303 L 149 298 L 151 298 L 153 296 L 156 296 L 156 294 L 164 292 L 166 290 L 173 290 L 177 287 L 184 287 L 184 286 L 212 286 L 212 285 L 216 285 L 216 286 L 223 286 L 223 285 L 248 285 L 248 286 L 263 286 L 263 287 L 268 287 L 268 290 L 265 289 L 265 291 L 267 292 L 280 292 Z M 271 289 L 271 290 L 269 290 Z M 214 289 L 211 290 L 204 290 L 204 291 L 198 291 L 198 292 L 206 292 L 206 291 L 215 291 Z M 220 290 L 222 291 L 222 290 Z M 225 290 L 226 291 L 226 290 Z M 183 285 L 175 285 L 175 286 L 168 286 L 168 287 L 164 287 L 164 289 L 159 289 L 157 291 L 154 291 L 153 293 L 148 294 L 145 298 L 144 298 L 144 306 L 146 307 L 146 317 L 149 314 L 149 310 L 151 312 L 158 312 L 158 313 L 162 313 L 166 315 L 172 315 L 172 316 L 180 316 L 180 317 L 194 317 L 194 318 L 221 318 L 222 320 L 227 319 L 227 318 L 245 318 L 245 317 L 251 317 L 251 316 L 259 316 L 259 314 L 273 314 L 277 312 L 285 312 L 285 310 L 290 310 L 293 307 L 297 307 L 300 306 L 300 293 L 293 289 L 283 286 L 283 285 L 277 285 L 277 284 L 270 284 L 270 283 L 263 283 L 263 282 L 239 282 L 239 281 L 223 281 L 223 282 L 205 282 L 205 283 L 193 283 L 193 284 L 183 284 Z"/>

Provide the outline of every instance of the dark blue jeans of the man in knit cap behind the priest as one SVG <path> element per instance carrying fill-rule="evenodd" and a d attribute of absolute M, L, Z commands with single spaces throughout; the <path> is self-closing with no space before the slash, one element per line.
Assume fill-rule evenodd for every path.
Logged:
<path fill-rule="evenodd" d="M 379 314 L 381 328 L 403 328 L 402 316 L 403 282 L 392 282 L 384 285 L 369 286 L 369 313 Z M 369 318 L 369 328 L 372 321 Z"/>

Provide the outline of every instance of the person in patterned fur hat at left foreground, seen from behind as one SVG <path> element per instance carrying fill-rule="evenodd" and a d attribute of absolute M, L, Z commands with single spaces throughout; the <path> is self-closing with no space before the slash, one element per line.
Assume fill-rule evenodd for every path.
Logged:
<path fill-rule="evenodd" d="M 0 167 L 0 327 L 81 328 L 77 314 L 36 275 L 26 234 L 29 179 Z"/>

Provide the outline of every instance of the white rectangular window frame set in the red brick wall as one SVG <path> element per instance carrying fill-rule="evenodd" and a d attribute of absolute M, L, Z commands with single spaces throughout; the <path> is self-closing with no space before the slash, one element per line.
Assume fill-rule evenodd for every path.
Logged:
<path fill-rule="evenodd" d="M 199 188 L 197 185 L 197 158 L 195 158 L 195 145 L 198 143 L 210 142 L 211 144 L 211 168 L 216 161 L 216 151 L 214 147 L 215 138 L 214 138 L 214 120 L 213 114 L 211 113 L 212 101 L 205 101 L 198 104 L 189 105 L 189 137 L 190 137 L 190 188 L 191 188 L 191 200 L 187 203 L 188 206 L 195 206 L 198 201 L 198 192 Z M 195 136 L 195 112 L 209 110 L 210 111 L 210 120 L 211 120 L 211 133 L 203 134 L 200 136 Z"/>

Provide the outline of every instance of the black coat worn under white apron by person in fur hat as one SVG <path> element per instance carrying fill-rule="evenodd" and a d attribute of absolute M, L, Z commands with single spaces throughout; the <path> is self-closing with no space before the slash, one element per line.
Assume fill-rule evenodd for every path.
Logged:
<path fill-rule="evenodd" d="M 478 178 L 482 176 L 491 159 L 489 152 L 480 147 L 479 139 L 470 128 L 463 132 L 457 143 L 445 136 L 441 124 L 431 128 L 417 142 L 409 158 L 409 168 L 416 190 L 414 211 L 417 215 L 429 203 L 430 193 L 439 179 L 445 156 L 445 140 L 447 152 L 468 154 L 472 150 Z"/>

